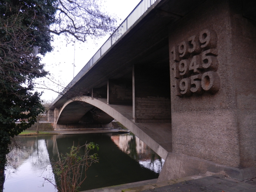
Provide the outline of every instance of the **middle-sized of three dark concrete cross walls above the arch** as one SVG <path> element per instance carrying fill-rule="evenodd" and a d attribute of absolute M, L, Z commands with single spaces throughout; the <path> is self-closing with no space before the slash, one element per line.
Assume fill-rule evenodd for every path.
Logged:
<path fill-rule="evenodd" d="M 108 104 L 132 105 L 132 81 L 108 79 Z"/>

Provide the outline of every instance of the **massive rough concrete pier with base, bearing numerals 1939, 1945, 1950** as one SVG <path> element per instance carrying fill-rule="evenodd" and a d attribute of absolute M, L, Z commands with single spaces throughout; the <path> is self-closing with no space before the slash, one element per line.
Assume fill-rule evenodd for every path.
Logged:
<path fill-rule="evenodd" d="M 159 181 L 256 177 L 256 25 L 235 2 L 205 1 L 169 28 L 172 153 Z"/>

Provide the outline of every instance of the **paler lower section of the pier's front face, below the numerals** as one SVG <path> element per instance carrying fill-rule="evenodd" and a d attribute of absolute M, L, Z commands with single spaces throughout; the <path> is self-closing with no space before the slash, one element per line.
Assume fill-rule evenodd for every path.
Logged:
<path fill-rule="evenodd" d="M 177 123 L 180 119 L 182 122 Z M 179 127 L 175 130 L 172 128 L 173 152 L 228 166 L 239 164 L 234 112 L 211 110 L 174 113 L 172 127 Z"/>

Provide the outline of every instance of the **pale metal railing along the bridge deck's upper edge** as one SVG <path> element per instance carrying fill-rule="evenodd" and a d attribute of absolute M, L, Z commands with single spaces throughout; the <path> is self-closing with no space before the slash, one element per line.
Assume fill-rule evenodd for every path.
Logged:
<path fill-rule="evenodd" d="M 133 11 L 126 17 L 121 25 L 114 31 L 114 33 L 108 38 L 108 40 L 100 47 L 100 49 L 93 55 L 93 57 L 85 64 L 82 69 L 83 72 L 87 71 L 100 57 L 108 51 L 108 49 L 116 43 L 116 41 L 124 35 L 124 33 L 132 27 L 132 25 L 145 13 L 152 4 L 157 0 L 142 0 L 133 9 Z"/>

